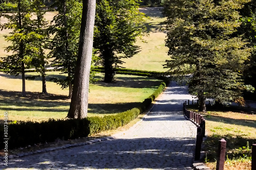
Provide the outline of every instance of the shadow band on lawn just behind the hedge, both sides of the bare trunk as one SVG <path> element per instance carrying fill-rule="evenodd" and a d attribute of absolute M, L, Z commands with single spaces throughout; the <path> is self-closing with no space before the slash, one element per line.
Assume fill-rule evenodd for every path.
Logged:
<path fill-rule="evenodd" d="M 140 102 L 116 103 L 116 104 L 89 104 L 89 113 L 113 114 L 139 107 Z M 67 112 L 70 100 L 65 95 L 28 92 L 23 97 L 18 91 L 0 90 L 0 109 L 4 111 L 27 111 L 27 112 Z M 62 107 L 61 107 L 62 106 Z M 43 113 L 42 113 L 43 114 Z M 49 117 L 50 118 L 50 117 Z"/>

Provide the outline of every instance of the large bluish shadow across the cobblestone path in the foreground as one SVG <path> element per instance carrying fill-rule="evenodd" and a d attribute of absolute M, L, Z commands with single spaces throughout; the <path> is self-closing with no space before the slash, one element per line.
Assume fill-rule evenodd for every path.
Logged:
<path fill-rule="evenodd" d="M 31 156 L 27 156 L 22 160 L 12 161 L 8 168 L 48 169 L 57 166 L 65 167 L 62 169 L 163 169 L 165 167 L 182 169 L 188 159 L 193 161 L 190 150 L 186 151 L 183 148 L 194 143 L 194 139 L 189 138 L 114 139 L 57 151 L 58 154 L 50 152 L 36 155 L 36 161 L 33 162 L 30 162 Z"/>

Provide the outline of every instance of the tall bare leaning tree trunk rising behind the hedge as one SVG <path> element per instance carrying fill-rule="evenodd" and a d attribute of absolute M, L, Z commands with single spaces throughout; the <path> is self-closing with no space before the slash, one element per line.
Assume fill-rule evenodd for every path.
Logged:
<path fill-rule="evenodd" d="M 93 31 L 96 0 L 83 0 L 80 39 L 73 94 L 67 117 L 84 118 L 88 112 L 90 69 L 93 53 Z"/>

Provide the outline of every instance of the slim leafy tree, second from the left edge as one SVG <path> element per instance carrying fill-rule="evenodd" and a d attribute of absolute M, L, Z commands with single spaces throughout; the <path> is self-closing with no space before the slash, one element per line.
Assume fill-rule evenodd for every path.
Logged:
<path fill-rule="evenodd" d="M 45 7 L 44 1 L 41 0 L 33 0 L 31 1 L 31 10 L 36 15 L 36 19 L 32 20 L 32 30 L 33 41 L 30 43 L 33 46 L 32 56 L 32 65 L 36 68 L 36 70 L 40 73 L 42 77 L 42 93 L 47 94 L 46 89 L 46 68 L 47 64 L 47 55 L 45 50 L 49 44 L 49 31 L 48 26 L 49 22 L 45 19 L 45 11 L 43 8 Z"/>

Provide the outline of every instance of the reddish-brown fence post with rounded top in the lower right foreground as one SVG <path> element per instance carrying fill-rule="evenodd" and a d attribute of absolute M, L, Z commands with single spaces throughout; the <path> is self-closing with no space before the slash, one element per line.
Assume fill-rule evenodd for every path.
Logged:
<path fill-rule="evenodd" d="M 216 170 L 224 170 L 227 142 L 223 138 L 219 141 L 220 141 L 220 143 L 219 143 L 218 160 L 217 160 Z"/>

